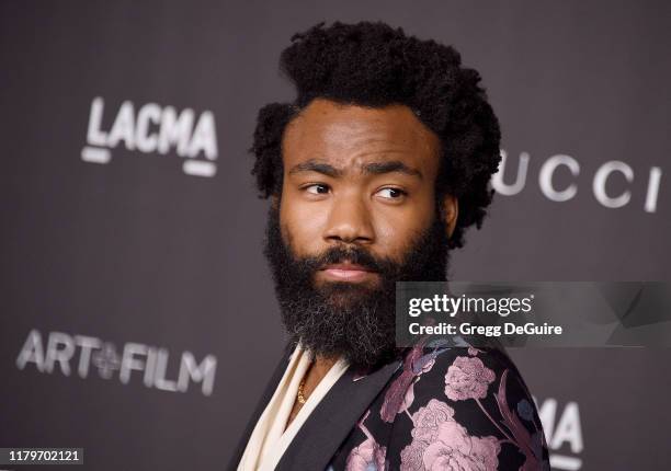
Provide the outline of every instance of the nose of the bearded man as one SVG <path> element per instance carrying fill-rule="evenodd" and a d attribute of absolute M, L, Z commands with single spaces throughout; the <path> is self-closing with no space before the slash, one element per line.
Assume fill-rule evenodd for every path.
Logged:
<path fill-rule="evenodd" d="M 332 199 L 323 238 L 331 243 L 373 242 L 369 208 L 360 195 L 352 192 Z"/>

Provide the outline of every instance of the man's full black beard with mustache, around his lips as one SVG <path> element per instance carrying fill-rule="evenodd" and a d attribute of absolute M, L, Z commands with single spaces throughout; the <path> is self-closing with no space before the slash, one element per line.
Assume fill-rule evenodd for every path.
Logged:
<path fill-rule="evenodd" d="M 447 272 L 448 249 L 443 217 L 421 232 L 400 263 L 373 256 L 360 245 L 333 245 L 317 256 L 296 256 L 271 206 L 264 254 L 269 260 L 282 321 L 291 341 L 311 355 L 344 357 L 355 370 L 369 370 L 398 357 L 396 282 L 440 282 Z M 332 282 L 315 284 L 326 265 L 351 262 L 379 275 L 375 286 Z"/>

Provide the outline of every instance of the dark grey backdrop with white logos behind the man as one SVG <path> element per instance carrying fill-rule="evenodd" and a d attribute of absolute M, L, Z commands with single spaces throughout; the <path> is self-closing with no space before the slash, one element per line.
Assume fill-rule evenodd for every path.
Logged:
<path fill-rule="evenodd" d="M 291 36 L 454 45 L 503 131 L 464 280 L 671 279 L 668 2 L 0 2 L 0 447 L 221 469 L 285 337 L 255 114 Z M 668 469 L 664 348 L 512 352 L 553 468 Z M 7 468 L 7 467 L 5 467 Z M 11 468 L 11 467 L 10 467 Z"/>

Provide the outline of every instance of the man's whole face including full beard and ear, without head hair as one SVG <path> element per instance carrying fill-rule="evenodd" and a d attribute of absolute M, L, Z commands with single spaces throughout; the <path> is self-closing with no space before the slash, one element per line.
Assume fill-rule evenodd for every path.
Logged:
<path fill-rule="evenodd" d="M 363 367 L 393 349 L 395 283 L 445 276 L 456 202 L 436 202 L 439 156 L 406 106 L 315 100 L 292 120 L 265 252 L 295 340 Z"/>

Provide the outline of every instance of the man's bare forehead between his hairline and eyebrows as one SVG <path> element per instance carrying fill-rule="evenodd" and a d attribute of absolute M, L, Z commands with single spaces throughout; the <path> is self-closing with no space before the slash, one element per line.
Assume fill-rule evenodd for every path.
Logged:
<path fill-rule="evenodd" d="M 349 169 L 400 160 L 434 174 L 440 140 L 405 105 L 369 108 L 314 100 L 288 125 L 283 139 L 285 169 L 320 160 Z"/>

